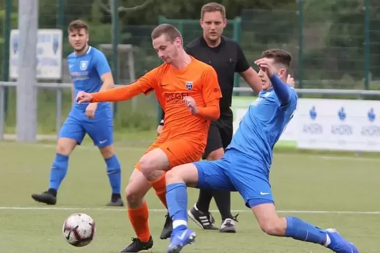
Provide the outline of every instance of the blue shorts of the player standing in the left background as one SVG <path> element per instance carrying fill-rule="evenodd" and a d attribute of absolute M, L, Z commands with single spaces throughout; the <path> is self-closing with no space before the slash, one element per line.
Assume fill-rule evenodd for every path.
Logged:
<path fill-rule="evenodd" d="M 73 107 L 62 125 L 59 137 L 70 138 L 80 145 L 88 134 L 95 146 L 100 148 L 114 143 L 114 120 L 111 107 L 98 107 L 95 117 L 89 119 L 84 109 Z"/>

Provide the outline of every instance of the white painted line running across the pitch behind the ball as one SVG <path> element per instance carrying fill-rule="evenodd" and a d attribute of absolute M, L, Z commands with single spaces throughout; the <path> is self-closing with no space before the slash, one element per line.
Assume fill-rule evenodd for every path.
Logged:
<path fill-rule="evenodd" d="M 78 210 L 78 211 L 118 211 L 125 212 L 125 209 L 118 208 L 75 208 L 75 207 L 0 207 L 0 210 Z M 168 212 L 166 209 L 150 209 L 150 212 Z M 217 210 L 210 210 L 210 212 L 219 212 Z M 234 213 L 250 213 L 249 209 L 246 210 L 232 210 Z M 359 211 L 312 211 L 312 210 L 281 210 L 279 213 L 303 213 L 303 214 L 373 214 L 378 215 L 380 211 L 374 212 L 359 212 Z"/>

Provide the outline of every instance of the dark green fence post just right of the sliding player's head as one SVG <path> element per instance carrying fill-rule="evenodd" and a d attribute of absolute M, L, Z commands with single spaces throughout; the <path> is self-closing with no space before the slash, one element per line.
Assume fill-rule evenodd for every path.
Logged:
<path fill-rule="evenodd" d="M 297 0 L 297 24 L 298 24 L 298 59 L 297 79 L 298 88 L 303 88 L 303 0 Z"/>

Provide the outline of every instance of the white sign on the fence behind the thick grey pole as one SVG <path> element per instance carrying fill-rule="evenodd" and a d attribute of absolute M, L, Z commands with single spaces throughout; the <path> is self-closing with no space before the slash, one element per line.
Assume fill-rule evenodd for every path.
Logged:
<path fill-rule="evenodd" d="M 9 53 L 10 78 L 18 78 L 19 47 L 18 30 L 11 31 Z M 62 78 L 62 30 L 39 29 L 37 42 L 37 79 Z"/>

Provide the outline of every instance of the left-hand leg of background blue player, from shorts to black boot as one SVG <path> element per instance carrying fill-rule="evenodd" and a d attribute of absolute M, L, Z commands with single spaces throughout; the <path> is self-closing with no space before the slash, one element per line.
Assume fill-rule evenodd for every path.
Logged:
<path fill-rule="evenodd" d="M 71 111 L 60 130 L 56 157 L 50 169 L 49 187 L 47 191 L 41 194 L 32 194 L 32 198 L 35 201 L 48 205 L 55 205 L 57 203 L 57 191 L 66 176 L 69 165 L 69 155 L 77 144 L 81 144 L 84 135 L 85 132 L 79 122 L 78 116 Z"/>

